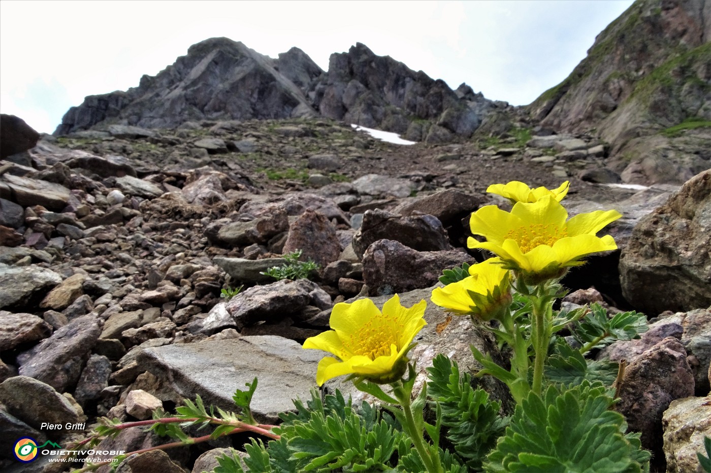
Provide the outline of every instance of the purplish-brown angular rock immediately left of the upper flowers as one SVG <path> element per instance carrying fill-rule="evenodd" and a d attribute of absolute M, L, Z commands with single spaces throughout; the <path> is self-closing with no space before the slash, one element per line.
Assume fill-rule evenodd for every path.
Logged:
<path fill-rule="evenodd" d="M 363 254 L 363 281 L 370 295 L 386 295 L 427 288 L 437 283 L 443 269 L 473 263 L 462 251 L 416 251 L 399 241 L 378 240 Z"/>

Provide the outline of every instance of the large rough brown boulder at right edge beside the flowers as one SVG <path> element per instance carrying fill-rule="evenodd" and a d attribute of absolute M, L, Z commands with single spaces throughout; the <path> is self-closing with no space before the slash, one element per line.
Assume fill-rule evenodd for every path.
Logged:
<path fill-rule="evenodd" d="M 619 271 L 625 298 L 648 315 L 711 305 L 711 170 L 640 220 Z"/>

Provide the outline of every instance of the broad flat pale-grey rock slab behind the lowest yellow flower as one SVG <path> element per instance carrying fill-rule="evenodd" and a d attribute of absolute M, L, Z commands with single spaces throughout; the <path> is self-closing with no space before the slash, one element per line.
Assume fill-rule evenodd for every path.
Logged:
<path fill-rule="evenodd" d="M 306 350 L 294 340 L 255 335 L 144 349 L 143 366 L 181 396 L 205 406 L 235 411 L 232 395 L 259 379 L 252 413 L 260 423 L 276 423 L 278 414 L 294 408 L 292 399 L 309 399 L 316 387 L 316 366 L 325 353 Z"/>

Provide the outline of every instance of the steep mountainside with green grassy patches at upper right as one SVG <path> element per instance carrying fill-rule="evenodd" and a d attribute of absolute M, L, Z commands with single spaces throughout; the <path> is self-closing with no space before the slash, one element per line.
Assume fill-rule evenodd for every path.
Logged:
<path fill-rule="evenodd" d="M 711 120 L 710 65 L 711 1 L 638 0 L 528 109 L 556 131 L 595 131 L 626 182 L 684 182 L 711 167 L 711 134 L 660 132 Z"/>

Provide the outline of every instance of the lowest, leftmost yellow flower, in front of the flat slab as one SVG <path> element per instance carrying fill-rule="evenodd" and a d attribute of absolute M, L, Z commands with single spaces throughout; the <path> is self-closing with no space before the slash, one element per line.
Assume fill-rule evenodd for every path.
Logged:
<path fill-rule="evenodd" d="M 405 308 L 395 294 L 383 305 L 381 313 L 370 299 L 333 306 L 331 329 L 304 342 L 304 348 L 330 352 L 338 359 L 324 357 L 316 369 L 316 383 L 343 374 L 356 374 L 368 381 L 387 384 L 405 374 L 412 339 L 427 325 L 424 300 Z"/>

